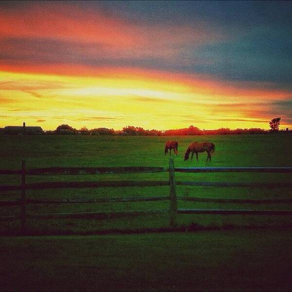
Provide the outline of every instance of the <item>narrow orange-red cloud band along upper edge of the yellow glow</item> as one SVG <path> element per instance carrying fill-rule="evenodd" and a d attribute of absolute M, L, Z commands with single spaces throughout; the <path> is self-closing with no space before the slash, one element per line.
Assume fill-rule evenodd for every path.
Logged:
<path fill-rule="evenodd" d="M 122 68 L 122 67 L 99 67 L 94 68 L 83 65 L 69 65 L 69 64 L 55 64 L 55 65 L 36 65 L 34 67 L 18 67 L 18 66 L 1 66 L 0 70 L 10 72 L 27 72 L 27 73 L 41 73 L 41 74 L 58 74 L 61 76 L 87 76 L 87 77 L 104 77 L 114 79 L 129 79 L 133 82 L 137 79 L 145 80 L 146 82 L 159 81 L 162 83 L 177 84 L 182 87 L 184 91 L 189 93 L 211 95 L 214 100 L 219 102 L 236 104 L 244 101 L 244 104 L 254 102 L 267 102 L 275 100 L 285 100 L 292 96 L 292 91 L 276 89 L 273 85 L 265 82 L 236 82 L 215 80 L 213 76 L 206 74 L 187 74 L 187 73 L 170 73 L 158 70 L 145 70 L 138 68 Z M 40 87 L 44 88 L 66 88 L 66 82 L 63 83 L 41 83 L 36 85 L 19 85 L 14 84 L 16 88 L 21 87 L 23 90 L 35 90 Z M 249 86 L 249 87 L 248 87 Z M 0 84 L 1 87 L 1 84 Z M 11 85 L 5 85 L 9 88 Z M 210 100 L 212 102 L 212 100 Z M 227 105 L 228 107 L 228 105 Z M 229 105 L 230 107 L 230 105 Z"/>

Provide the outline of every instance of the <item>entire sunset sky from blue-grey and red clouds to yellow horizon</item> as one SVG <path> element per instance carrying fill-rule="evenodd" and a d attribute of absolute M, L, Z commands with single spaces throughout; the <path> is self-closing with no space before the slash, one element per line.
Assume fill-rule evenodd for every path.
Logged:
<path fill-rule="evenodd" d="M 0 1 L 0 127 L 292 128 L 292 1 Z"/>

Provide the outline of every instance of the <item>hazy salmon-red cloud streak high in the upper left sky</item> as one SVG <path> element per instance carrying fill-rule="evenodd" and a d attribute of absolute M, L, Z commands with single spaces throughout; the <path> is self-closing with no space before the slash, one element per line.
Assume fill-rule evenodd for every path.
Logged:
<path fill-rule="evenodd" d="M 224 38 L 199 24 L 140 25 L 70 4 L 30 2 L 28 5 L 25 14 L 20 9 L 0 11 L 0 38 L 77 42 L 87 44 L 80 46 L 87 55 L 98 54 L 98 49 L 90 45 L 95 43 L 102 46 L 111 58 L 159 56 L 168 59 L 179 54 L 179 46 Z"/>

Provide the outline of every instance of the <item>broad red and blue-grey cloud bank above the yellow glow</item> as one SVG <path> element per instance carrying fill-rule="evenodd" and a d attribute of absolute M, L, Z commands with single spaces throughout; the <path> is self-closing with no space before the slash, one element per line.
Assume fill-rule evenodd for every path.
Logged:
<path fill-rule="evenodd" d="M 291 90 L 291 4 L 178 3 L 2 4 L 0 68 L 135 67 Z"/>

